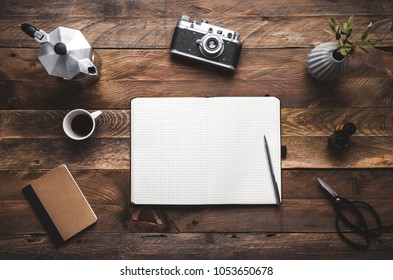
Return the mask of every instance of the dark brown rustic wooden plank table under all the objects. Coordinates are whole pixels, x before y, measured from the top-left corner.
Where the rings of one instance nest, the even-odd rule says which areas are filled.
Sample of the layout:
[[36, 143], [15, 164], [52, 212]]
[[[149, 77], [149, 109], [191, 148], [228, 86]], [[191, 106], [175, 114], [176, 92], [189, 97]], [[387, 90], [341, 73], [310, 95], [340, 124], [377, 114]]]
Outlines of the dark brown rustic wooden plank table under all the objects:
[[[393, 224], [393, 57], [359, 54], [341, 80], [319, 83], [305, 67], [328, 41], [327, 18], [373, 21], [393, 46], [390, 0], [381, 1], [11, 1], [0, 2], [1, 259], [392, 259], [393, 234], [359, 252], [340, 240], [328, 196], [372, 204]], [[170, 58], [180, 15], [239, 31], [244, 48], [234, 76]], [[102, 59], [86, 90], [49, 76], [23, 22], [45, 31], [79, 29]], [[274, 206], [137, 207], [130, 196], [130, 99], [137, 96], [262, 96], [281, 99], [283, 203]], [[68, 139], [62, 119], [100, 109], [94, 135]], [[350, 150], [335, 155], [327, 137], [352, 121]], [[21, 189], [65, 163], [98, 216], [92, 228], [55, 248]]]

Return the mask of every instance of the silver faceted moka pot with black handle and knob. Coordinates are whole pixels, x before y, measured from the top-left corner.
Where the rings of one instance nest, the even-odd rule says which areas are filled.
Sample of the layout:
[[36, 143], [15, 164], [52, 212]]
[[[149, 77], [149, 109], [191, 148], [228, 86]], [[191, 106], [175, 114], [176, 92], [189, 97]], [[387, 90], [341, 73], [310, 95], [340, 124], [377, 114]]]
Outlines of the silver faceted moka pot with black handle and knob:
[[79, 30], [60, 26], [48, 34], [28, 23], [21, 29], [40, 43], [38, 59], [49, 75], [76, 81], [84, 88], [99, 79], [101, 60]]

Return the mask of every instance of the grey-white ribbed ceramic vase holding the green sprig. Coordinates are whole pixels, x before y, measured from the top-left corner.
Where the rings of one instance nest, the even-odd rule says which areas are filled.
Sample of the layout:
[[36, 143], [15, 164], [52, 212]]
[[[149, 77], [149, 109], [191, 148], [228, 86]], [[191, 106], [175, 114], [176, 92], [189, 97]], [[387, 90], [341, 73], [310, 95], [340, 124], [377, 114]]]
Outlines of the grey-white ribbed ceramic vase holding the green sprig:
[[336, 43], [322, 43], [313, 48], [308, 54], [307, 69], [314, 79], [322, 82], [337, 80], [348, 65], [349, 57], [345, 56], [341, 60], [333, 57], [333, 52], [337, 50]]

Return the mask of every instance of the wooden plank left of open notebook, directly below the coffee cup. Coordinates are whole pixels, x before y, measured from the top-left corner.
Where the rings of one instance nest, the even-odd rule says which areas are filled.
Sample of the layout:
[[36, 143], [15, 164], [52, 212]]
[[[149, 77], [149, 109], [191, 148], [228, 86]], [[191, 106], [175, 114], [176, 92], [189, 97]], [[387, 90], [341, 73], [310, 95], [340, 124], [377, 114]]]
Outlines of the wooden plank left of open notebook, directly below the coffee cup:
[[[129, 139], [3, 139], [0, 169], [129, 169]], [[6, 167], [7, 166], [7, 167]]]

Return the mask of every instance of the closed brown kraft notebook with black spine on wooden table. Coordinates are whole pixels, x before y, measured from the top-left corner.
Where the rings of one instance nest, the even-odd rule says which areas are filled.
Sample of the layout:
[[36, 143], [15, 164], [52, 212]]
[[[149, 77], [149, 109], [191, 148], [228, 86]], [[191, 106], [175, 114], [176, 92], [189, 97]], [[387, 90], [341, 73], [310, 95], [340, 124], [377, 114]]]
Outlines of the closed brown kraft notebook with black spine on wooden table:
[[66, 241], [97, 221], [64, 164], [31, 181], [23, 192], [55, 243]]

